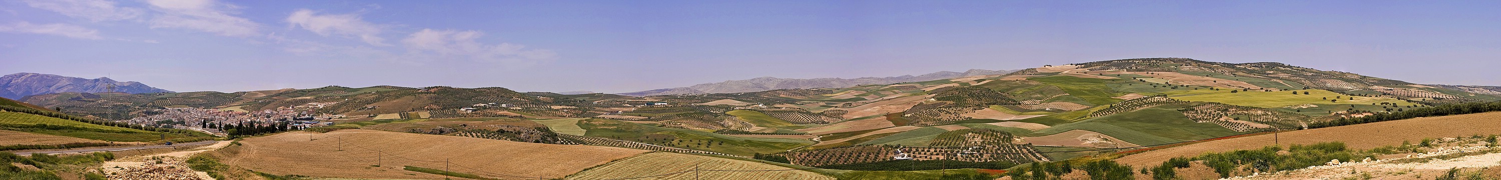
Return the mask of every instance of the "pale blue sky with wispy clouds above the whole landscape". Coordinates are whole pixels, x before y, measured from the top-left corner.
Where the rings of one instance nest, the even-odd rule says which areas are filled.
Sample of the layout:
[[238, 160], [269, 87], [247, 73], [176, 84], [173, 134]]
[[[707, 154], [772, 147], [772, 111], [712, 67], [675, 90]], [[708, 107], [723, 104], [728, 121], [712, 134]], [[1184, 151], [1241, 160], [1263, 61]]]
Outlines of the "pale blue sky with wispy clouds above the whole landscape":
[[0, 0], [0, 74], [176, 92], [623, 93], [699, 82], [1282, 62], [1501, 86], [1501, 2]]

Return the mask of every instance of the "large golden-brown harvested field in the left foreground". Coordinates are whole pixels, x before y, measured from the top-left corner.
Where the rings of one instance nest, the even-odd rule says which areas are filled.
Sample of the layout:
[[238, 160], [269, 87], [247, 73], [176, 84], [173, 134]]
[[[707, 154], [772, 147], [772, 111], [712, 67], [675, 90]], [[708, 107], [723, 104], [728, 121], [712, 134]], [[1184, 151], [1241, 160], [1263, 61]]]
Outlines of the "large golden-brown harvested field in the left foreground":
[[[444, 159], [452, 160], [453, 166], [449, 171], [455, 172], [495, 178], [509, 177], [491, 172], [557, 178], [645, 153], [618, 147], [533, 144], [363, 129], [327, 134], [287, 132], [246, 138], [242, 142], [243, 148], [222, 162], [281, 176], [350, 178], [443, 178], [443, 176], [404, 171], [402, 166], [441, 170]], [[377, 162], [380, 166], [372, 166]]]

